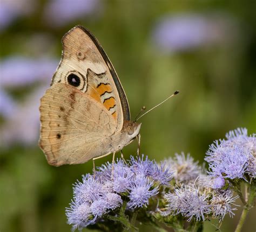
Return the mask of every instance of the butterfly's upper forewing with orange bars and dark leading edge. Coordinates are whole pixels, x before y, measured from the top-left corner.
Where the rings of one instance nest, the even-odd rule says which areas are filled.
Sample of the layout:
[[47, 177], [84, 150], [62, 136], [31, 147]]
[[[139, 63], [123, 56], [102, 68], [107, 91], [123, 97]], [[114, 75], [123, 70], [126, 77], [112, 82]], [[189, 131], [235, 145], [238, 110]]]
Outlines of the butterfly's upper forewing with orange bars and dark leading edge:
[[[129, 104], [116, 71], [97, 39], [83, 26], [76, 26], [62, 38], [62, 60], [52, 78], [68, 83], [70, 74], [82, 78], [79, 89], [102, 103], [116, 121], [116, 131], [130, 121]], [[83, 85], [82, 85], [83, 84]]]

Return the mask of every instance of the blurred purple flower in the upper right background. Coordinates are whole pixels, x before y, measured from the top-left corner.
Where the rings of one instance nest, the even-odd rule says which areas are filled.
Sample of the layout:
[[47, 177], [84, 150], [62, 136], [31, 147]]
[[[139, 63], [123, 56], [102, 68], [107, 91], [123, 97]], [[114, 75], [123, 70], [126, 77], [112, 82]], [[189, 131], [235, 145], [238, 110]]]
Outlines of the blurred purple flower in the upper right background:
[[[164, 17], [153, 30], [153, 41], [164, 52], [192, 50], [230, 39], [233, 22], [227, 16], [180, 14]], [[234, 38], [233, 38], [234, 39]]]

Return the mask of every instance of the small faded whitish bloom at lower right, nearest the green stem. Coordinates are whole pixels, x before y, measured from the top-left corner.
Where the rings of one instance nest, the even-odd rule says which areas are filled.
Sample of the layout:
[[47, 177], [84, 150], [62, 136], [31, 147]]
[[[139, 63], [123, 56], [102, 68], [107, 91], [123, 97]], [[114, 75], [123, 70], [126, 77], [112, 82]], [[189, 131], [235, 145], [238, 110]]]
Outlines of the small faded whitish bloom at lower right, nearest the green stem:
[[237, 208], [232, 208], [232, 205], [238, 206], [234, 204], [238, 198], [239, 196], [233, 197], [231, 190], [214, 192], [211, 199], [213, 216], [219, 217], [220, 220], [223, 220], [226, 214], [233, 217], [234, 213], [232, 211], [237, 210]]

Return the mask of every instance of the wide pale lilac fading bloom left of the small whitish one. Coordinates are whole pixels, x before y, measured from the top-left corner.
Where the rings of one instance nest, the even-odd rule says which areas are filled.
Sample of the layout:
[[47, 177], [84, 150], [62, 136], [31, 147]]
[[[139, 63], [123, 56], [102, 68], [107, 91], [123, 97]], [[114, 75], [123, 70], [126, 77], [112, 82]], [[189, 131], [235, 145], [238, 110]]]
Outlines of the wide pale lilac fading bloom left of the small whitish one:
[[[191, 221], [195, 216], [197, 221], [205, 220], [205, 215], [211, 212], [208, 204], [208, 195], [201, 193], [199, 188], [194, 186], [182, 185], [180, 188], [174, 189], [174, 193], [165, 194], [167, 200], [167, 214], [181, 214], [188, 217], [187, 221]], [[166, 212], [163, 215], [166, 215]]]

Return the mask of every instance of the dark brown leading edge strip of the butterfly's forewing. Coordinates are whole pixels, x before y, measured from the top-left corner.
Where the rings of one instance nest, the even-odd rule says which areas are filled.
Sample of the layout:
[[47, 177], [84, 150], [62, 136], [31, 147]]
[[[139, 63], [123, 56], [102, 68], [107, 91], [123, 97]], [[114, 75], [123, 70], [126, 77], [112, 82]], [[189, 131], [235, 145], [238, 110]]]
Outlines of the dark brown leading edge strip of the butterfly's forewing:
[[[109, 60], [109, 58], [107, 57], [105, 51], [103, 50], [102, 46], [99, 44], [98, 40], [95, 38], [95, 36], [93, 36], [93, 34], [87, 30], [84, 26], [81, 26], [81, 25], [77, 25], [76, 27], [80, 28], [81, 30], [83, 30], [87, 36], [90, 37], [90, 39], [93, 41], [93, 43], [96, 45], [99, 53], [102, 55], [105, 63], [106, 63], [106, 66], [109, 67], [109, 71], [110, 71], [110, 74], [112, 75], [112, 78], [114, 80], [114, 83], [117, 87], [117, 91], [118, 91], [118, 94], [119, 94], [119, 97], [120, 97], [120, 100], [121, 100], [121, 105], [122, 105], [122, 110], [123, 110], [123, 115], [124, 115], [124, 120], [126, 121], [130, 121], [130, 109], [129, 109], [129, 104], [128, 104], [128, 101], [127, 101], [127, 98], [126, 98], [126, 95], [125, 95], [125, 92], [124, 92], [124, 89], [119, 81], [119, 78], [117, 76], [117, 73], [116, 71], [114, 70], [114, 67], [113, 65], [111, 64], [111, 61]], [[76, 28], [75, 27], [75, 28]], [[64, 35], [65, 37], [65, 35]], [[63, 38], [64, 38], [63, 37]]]

